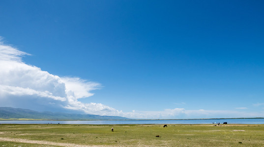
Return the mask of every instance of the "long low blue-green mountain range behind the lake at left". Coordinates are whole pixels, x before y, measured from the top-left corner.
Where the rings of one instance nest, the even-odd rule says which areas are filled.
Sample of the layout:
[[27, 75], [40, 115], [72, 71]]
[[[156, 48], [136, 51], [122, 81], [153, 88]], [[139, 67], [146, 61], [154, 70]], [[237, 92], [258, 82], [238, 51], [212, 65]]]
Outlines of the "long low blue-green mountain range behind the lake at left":
[[44, 120], [130, 120], [118, 116], [38, 112], [29, 109], [0, 107], [0, 119], [44, 119]]

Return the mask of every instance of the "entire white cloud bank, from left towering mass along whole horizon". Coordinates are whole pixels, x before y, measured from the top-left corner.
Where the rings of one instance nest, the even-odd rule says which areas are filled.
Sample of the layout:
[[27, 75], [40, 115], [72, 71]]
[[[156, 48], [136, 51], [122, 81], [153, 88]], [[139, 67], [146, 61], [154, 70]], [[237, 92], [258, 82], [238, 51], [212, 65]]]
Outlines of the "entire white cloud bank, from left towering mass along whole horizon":
[[[121, 116], [136, 119], [189, 119], [189, 118], [235, 118], [264, 117], [264, 113], [239, 111], [185, 110], [122, 112], [102, 103], [83, 103], [92, 90], [101, 84], [79, 77], [59, 77], [23, 62], [30, 55], [0, 42], [0, 106], [28, 108], [37, 111], [81, 112], [96, 115]], [[180, 103], [184, 104], [185, 103]], [[262, 104], [259, 104], [262, 105]], [[244, 108], [237, 108], [244, 109]]]

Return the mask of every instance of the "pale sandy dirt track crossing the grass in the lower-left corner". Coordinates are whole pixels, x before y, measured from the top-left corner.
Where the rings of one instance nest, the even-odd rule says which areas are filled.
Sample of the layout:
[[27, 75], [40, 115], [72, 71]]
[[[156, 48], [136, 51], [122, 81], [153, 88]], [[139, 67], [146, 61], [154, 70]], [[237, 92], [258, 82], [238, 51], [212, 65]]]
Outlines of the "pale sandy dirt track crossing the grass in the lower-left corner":
[[52, 145], [52, 146], [61, 146], [61, 147], [106, 147], [106, 146], [85, 146], [85, 145], [76, 145], [76, 144], [69, 144], [69, 143], [55, 143], [55, 142], [48, 142], [48, 141], [37, 141], [37, 140], [27, 140], [27, 139], [18, 139], [18, 138], [6, 138], [6, 137], [0, 137], [0, 141]]

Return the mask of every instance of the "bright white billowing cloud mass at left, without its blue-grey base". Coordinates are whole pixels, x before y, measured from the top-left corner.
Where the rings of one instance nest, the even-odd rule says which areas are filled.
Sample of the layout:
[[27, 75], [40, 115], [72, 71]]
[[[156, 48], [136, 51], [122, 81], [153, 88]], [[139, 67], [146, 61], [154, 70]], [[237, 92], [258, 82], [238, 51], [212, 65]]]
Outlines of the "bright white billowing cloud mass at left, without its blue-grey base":
[[[91, 90], [98, 89], [99, 83], [78, 77], [59, 77], [28, 65], [22, 61], [26, 52], [0, 43], [0, 100], [1, 106], [13, 99], [12, 106], [25, 107], [19, 99], [30, 99], [29, 106], [41, 98], [50, 105], [58, 104], [61, 108], [85, 110], [87, 113], [111, 109], [102, 104], [83, 104], [78, 98], [88, 98]], [[44, 100], [45, 99], [45, 100]], [[38, 103], [40, 104], [40, 103]], [[105, 107], [105, 108], [102, 108]], [[97, 108], [97, 109], [96, 109]], [[113, 109], [113, 108], [112, 108]], [[99, 113], [98, 113], [99, 114]]]

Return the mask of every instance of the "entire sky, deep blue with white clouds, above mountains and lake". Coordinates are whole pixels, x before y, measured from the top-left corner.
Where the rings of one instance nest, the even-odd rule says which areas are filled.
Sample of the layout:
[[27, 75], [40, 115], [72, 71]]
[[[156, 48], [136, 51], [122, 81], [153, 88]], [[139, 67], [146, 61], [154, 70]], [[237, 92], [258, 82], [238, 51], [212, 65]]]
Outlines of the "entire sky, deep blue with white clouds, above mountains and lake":
[[263, 7], [1, 0], [0, 106], [141, 119], [264, 117]]

